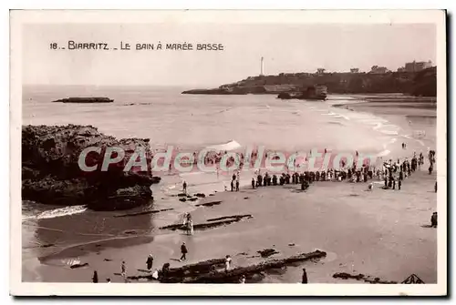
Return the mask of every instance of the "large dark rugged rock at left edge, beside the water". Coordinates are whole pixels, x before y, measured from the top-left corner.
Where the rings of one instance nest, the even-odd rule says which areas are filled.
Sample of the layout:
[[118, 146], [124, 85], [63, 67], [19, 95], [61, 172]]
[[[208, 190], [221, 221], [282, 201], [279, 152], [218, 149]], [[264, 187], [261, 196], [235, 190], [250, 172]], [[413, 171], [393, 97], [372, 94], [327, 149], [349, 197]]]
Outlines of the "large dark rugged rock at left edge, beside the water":
[[[85, 163], [97, 166], [84, 171], [78, 161], [87, 147]], [[125, 152], [119, 162], [101, 170], [107, 147], [120, 147]], [[148, 170], [125, 165], [141, 147]], [[115, 158], [116, 153], [110, 155]], [[118, 210], [149, 204], [153, 200], [150, 186], [160, 178], [150, 172], [149, 139], [116, 139], [92, 126], [24, 126], [22, 127], [22, 198], [50, 205], [84, 205], [94, 210]]]

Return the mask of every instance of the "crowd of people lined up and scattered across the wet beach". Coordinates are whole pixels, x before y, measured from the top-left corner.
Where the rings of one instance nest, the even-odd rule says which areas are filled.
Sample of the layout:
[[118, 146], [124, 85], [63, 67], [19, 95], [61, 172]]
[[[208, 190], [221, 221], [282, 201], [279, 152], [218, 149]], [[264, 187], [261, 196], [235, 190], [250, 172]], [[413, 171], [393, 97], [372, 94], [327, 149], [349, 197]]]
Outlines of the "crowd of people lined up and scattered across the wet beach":
[[[402, 148], [406, 148], [406, 145], [402, 143]], [[253, 157], [255, 157], [253, 153]], [[358, 152], [357, 152], [358, 155]], [[212, 158], [209, 158], [208, 162], [215, 162], [218, 158], [222, 158], [222, 153], [214, 155]], [[243, 156], [244, 157], [244, 156]], [[434, 150], [430, 150], [428, 153], [430, 167], [428, 172], [431, 175], [433, 171], [433, 166], [435, 164], [436, 153]], [[284, 186], [284, 185], [300, 185], [302, 190], [306, 190], [309, 186], [316, 181], [349, 181], [352, 183], [367, 183], [369, 179], [377, 178], [378, 181], [383, 180], [384, 185], [383, 189], [396, 189], [400, 190], [402, 186], [402, 181], [405, 178], [408, 178], [412, 175], [413, 172], [420, 169], [424, 165], [424, 156], [420, 153], [419, 156], [416, 153], [413, 153], [412, 158], [404, 158], [402, 160], [397, 159], [393, 161], [389, 159], [388, 161], [383, 162], [381, 168], [376, 168], [375, 166], [369, 166], [368, 164], [363, 165], [361, 168], [357, 168], [356, 163], [353, 162], [351, 167], [346, 167], [346, 164], [342, 161], [342, 169], [328, 168], [326, 170], [320, 171], [305, 171], [305, 172], [295, 172], [293, 174], [282, 173], [281, 175], [270, 175], [268, 172], [265, 172], [264, 175], [258, 170], [255, 174], [255, 177], [252, 178], [252, 188], [263, 188], [269, 186]], [[233, 174], [231, 180], [231, 191], [239, 191], [240, 184], [240, 171], [238, 170]], [[183, 181], [182, 188], [184, 193], [187, 193], [187, 183]], [[437, 182], [434, 186], [435, 192], [437, 192]], [[373, 183], [368, 184], [368, 190], [373, 190]], [[190, 213], [185, 213], [183, 216], [182, 226], [186, 229], [188, 235], [193, 235], [193, 222], [192, 215]], [[431, 217], [431, 226], [437, 227], [437, 212], [434, 212]], [[181, 258], [179, 261], [186, 260], [189, 250], [185, 242], [181, 244]], [[225, 257], [224, 261], [224, 270], [228, 272], [232, 268], [232, 258], [230, 255]], [[146, 260], [146, 267], [149, 272], [152, 272], [153, 266], [153, 256], [150, 254]], [[159, 279], [159, 276], [165, 277], [170, 271], [170, 263], [163, 264], [161, 270], [155, 269], [152, 273], [152, 278]], [[127, 267], [125, 261], [122, 261], [120, 265], [120, 275], [124, 278], [125, 282], [127, 280]], [[94, 283], [98, 282], [98, 272], [95, 270], [92, 276], [92, 281]], [[110, 279], [107, 279], [107, 282], [110, 282]], [[245, 283], [245, 276], [241, 276], [239, 279], [240, 283]], [[303, 269], [302, 283], [307, 283], [307, 274], [306, 269]]]

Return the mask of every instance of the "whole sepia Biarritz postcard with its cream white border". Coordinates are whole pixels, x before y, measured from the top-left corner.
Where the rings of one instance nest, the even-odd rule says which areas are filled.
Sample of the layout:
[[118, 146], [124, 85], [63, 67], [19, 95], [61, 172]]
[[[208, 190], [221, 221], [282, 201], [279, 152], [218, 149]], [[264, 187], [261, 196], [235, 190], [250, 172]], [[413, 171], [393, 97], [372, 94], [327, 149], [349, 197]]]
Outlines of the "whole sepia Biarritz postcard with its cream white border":
[[13, 294], [446, 295], [444, 10], [10, 22]]

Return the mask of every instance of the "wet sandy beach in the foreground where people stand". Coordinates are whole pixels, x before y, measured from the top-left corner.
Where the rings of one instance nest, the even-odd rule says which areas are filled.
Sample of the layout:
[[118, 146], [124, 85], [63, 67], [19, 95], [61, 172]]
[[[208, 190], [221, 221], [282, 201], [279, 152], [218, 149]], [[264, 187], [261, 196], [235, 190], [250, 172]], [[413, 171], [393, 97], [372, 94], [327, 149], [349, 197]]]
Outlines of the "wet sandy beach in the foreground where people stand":
[[[426, 156], [427, 147], [435, 147], [435, 109], [417, 107], [413, 116], [408, 116], [407, 107], [379, 107], [379, 102], [369, 103], [349, 104], [347, 109], [368, 111], [410, 129], [409, 137], [399, 137], [386, 158], [411, 158], [414, 151]], [[417, 129], [424, 130], [426, 137], [416, 140], [412, 130]], [[400, 147], [402, 141], [408, 143], [407, 149]], [[313, 183], [306, 192], [298, 191], [299, 185], [285, 185], [219, 191], [191, 203], [181, 203], [175, 198], [170, 204], [158, 199], [154, 209], [172, 207], [174, 210], [122, 218], [125, 234], [121, 237], [107, 235], [101, 240], [99, 236], [93, 239], [86, 236], [78, 246], [45, 249], [39, 256], [24, 260], [23, 280], [88, 282], [93, 270], [97, 270], [100, 281], [109, 278], [123, 282], [115, 275], [120, 272], [122, 260], [126, 261], [128, 275], [133, 276], [143, 273], [139, 269], [145, 269], [149, 254], [154, 257], [153, 269], [161, 269], [166, 262], [173, 268], [204, 259], [222, 259], [225, 255], [233, 257], [236, 267], [264, 260], [257, 251], [272, 248], [278, 253], [271, 259], [314, 249], [324, 250], [327, 255], [325, 259], [268, 271], [262, 282], [299, 282], [301, 269], [306, 268], [311, 283], [356, 282], [334, 279], [336, 272], [363, 273], [398, 282], [414, 273], [426, 283], [435, 283], [437, 230], [428, 227], [430, 216], [437, 208], [436, 172], [428, 175], [428, 167], [426, 158], [424, 166], [406, 178], [400, 190], [381, 189], [383, 181], [374, 178], [372, 192], [367, 191], [367, 183], [326, 181]], [[221, 202], [211, 207], [196, 207], [213, 201]], [[179, 230], [158, 229], [181, 222], [185, 211], [192, 212], [194, 224], [234, 215], [249, 214], [252, 218], [195, 230], [193, 236]], [[111, 217], [116, 215], [119, 213]], [[66, 216], [61, 221], [69, 225], [72, 217]], [[110, 221], [109, 216], [104, 214], [102, 221]], [[154, 229], [144, 229], [150, 222], [154, 223]], [[178, 261], [182, 241], [189, 249], [184, 262]], [[70, 269], [68, 259], [75, 258], [88, 266]]]

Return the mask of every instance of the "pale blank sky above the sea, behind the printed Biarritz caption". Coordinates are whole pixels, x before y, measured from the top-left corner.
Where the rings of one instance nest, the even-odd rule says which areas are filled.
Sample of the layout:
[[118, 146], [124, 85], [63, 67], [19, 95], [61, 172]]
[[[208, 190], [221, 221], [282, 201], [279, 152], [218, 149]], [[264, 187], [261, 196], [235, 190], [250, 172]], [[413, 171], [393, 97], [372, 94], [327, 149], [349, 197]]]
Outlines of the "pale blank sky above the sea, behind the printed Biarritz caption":
[[[436, 61], [433, 24], [36, 24], [22, 34], [24, 85], [220, 86], [259, 75], [262, 56], [265, 75]], [[111, 49], [68, 50], [69, 40]], [[135, 50], [159, 42], [162, 50]], [[165, 49], [179, 43], [223, 50]]]

